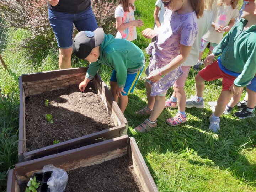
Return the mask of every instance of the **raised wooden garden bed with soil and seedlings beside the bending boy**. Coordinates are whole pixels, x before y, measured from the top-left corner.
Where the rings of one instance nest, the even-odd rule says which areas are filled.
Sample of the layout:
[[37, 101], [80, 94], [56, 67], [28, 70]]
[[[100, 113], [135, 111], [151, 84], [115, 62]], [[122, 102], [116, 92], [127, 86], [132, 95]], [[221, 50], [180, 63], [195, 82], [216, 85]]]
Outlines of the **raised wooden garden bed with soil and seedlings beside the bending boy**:
[[[79, 91], [86, 71], [75, 68], [19, 77], [20, 162], [127, 133], [126, 118], [98, 74], [84, 93]], [[46, 121], [45, 114], [52, 115], [53, 123]], [[60, 143], [53, 144], [54, 140]]]

